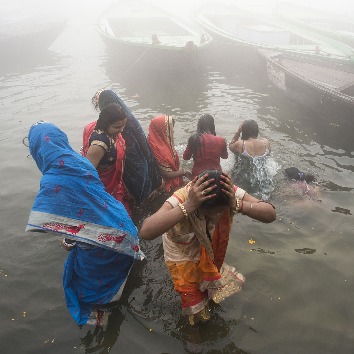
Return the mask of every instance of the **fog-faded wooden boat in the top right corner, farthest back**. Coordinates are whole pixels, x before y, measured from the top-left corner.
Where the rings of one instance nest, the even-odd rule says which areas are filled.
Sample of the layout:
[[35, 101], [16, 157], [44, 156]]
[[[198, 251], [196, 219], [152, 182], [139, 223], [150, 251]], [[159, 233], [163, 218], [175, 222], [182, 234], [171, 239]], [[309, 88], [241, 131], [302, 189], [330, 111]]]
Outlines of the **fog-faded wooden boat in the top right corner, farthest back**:
[[354, 18], [288, 2], [277, 3], [276, 17], [354, 47]]

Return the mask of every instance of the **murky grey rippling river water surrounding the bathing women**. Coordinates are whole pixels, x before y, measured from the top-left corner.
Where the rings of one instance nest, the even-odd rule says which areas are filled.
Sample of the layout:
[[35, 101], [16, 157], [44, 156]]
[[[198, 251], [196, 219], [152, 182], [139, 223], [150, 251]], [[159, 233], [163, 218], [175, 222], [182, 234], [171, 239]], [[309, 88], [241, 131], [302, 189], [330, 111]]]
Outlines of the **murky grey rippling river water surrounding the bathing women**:
[[[173, 115], [181, 157], [201, 114], [212, 114], [217, 134], [228, 140], [242, 120], [258, 122], [259, 136], [272, 146], [272, 184], [261, 195], [276, 205], [278, 217], [272, 224], [235, 218], [225, 262], [245, 275], [244, 291], [211, 306], [211, 320], [191, 330], [164, 263], [161, 238], [142, 240], [147, 258], [136, 263], [123, 298], [110, 308], [108, 326], [75, 323], [64, 300], [67, 252], [61, 240], [24, 233], [41, 173], [27, 158], [22, 138], [45, 119], [79, 150], [84, 125], [97, 118], [91, 97], [126, 69], [92, 27], [68, 27], [44, 55], [0, 69], [1, 352], [351, 353], [352, 131], [292, 104], [257, 67], [222, 54], [218, 60], [207, 56], [194, 77], [132, 69], [110, 88], [145, 132], [154, 116]], [[140, 97], [131, 97], [136, 94]], [[291, 166], [318, 178], [313, 194], [284, 177], [282, 170]], [[222, 167], [233, 171], [232, 153]], [[192, 162], [182, 161], [182, 168], [190, 170]], [[155, 204], [135, 210], [137, 225]]]

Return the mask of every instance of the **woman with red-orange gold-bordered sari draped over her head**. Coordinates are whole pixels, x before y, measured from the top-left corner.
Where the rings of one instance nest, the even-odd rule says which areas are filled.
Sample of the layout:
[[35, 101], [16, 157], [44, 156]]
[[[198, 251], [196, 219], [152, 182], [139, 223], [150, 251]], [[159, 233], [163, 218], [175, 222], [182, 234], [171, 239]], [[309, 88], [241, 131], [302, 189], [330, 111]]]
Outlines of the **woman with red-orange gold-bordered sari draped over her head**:
[[165, 183], [165, 193], [184, 184], [183, 176], [191, 179], [189, 171], [179, 169], [179, 156], [173, 145], [175, 120], [170, 115], [154, 118], [149, 125], [148, 143], [155, 156]]

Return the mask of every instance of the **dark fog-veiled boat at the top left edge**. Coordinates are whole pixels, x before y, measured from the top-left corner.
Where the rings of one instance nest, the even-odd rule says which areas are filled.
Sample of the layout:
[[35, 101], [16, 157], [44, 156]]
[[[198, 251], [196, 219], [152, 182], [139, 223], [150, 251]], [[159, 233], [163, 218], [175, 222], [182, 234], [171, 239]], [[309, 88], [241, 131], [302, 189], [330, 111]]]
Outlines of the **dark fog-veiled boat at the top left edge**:
[[67, 20], [61, 23], [32, 24], [0, 29], [0, 55], [19, 56], [49, 48], [63, 32]]

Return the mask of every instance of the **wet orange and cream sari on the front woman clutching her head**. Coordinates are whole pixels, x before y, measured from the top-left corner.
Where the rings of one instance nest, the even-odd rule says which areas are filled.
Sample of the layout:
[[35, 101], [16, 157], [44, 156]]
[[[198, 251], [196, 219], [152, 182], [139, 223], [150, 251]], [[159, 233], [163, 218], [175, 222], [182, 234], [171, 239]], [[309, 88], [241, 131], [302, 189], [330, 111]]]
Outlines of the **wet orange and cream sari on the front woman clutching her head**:
[[[190, 183], [177, 190], [167, 202], [175, 207], [188, 200]], [[235, 187], [237, 189], [237, 187]], [[215, 225], [212, 242], [206, 235], [206, 222], [195, 213], [163, 235], [164, 254], [175, 290], [181, 295], [182, 314], [190, 324], [207, 320], [210, 299], [218, 303], [243, 289], [245, 278], [224, 263], [233, 223], [233, 212], [226, 207]], [[196, 317], [195, 317], [196, 316]]]

